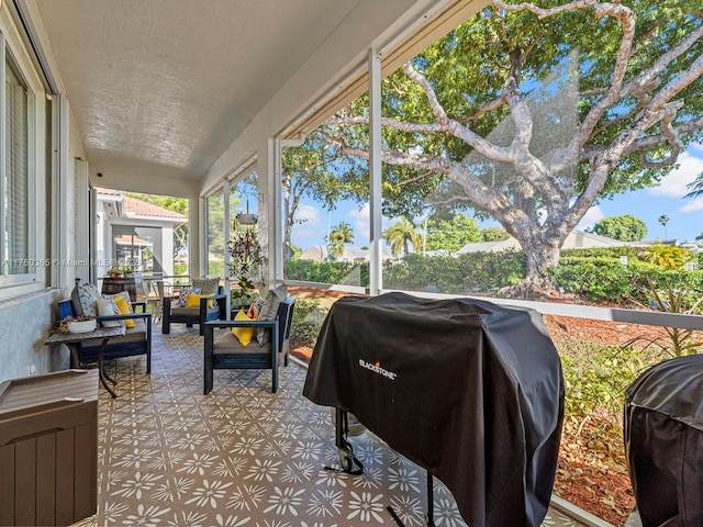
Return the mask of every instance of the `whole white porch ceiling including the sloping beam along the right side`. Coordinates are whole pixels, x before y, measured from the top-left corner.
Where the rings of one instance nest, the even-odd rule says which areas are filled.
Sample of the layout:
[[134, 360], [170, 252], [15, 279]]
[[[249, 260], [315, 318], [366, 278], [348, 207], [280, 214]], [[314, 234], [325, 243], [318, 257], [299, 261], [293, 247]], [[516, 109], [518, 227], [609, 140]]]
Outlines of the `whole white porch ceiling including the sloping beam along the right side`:
[[487, 1], [13, 0], [91, 177], [144, 192], [211, 186], [321, 98], [364, 91], [369, 48], [395, 68]]

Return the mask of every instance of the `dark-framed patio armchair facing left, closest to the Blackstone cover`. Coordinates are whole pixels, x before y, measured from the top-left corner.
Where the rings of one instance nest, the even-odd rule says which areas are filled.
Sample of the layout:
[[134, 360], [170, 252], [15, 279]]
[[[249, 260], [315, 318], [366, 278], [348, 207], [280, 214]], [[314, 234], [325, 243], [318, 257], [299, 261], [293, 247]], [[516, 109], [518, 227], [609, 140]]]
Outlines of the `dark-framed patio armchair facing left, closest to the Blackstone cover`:
[[[238, 370], [238, 369], [269, 369], [271, 370], [271, 392], [278, 391], [278, 366], [282, 361], [288, 366], [288, 350], [290, 329], [293, 322], [293, 310], [295, 299], [288, 296], [283, 299], [274, 319], [256, 321], [216, 321], [205, 323], [205, 345], [204, 345], [204, 382], [203, 393], [208, 394], [213, 388], [214, 370]], [[263, 310], [263, 314], [266, 312]], [[215, 328], [225, 328], [220, 332], [215, 340]], [[252, 328], [270, 332], [268, 339], [252, 338], [247, 345], [243, 345], [238, 337], [232, 334], [233, 328]], [[263, 343], [263, 344], [261, 344]]]

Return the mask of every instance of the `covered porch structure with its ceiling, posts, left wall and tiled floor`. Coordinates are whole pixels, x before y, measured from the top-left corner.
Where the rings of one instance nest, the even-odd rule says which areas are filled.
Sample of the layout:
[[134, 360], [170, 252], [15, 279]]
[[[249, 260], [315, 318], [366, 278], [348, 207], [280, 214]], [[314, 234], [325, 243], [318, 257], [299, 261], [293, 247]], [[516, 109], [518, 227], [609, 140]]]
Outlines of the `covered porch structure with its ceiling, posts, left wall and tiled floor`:
[[[75, 280], [97, 282], [109, 267], [96, 254], [98, 187], [187, 198], [189, 273], [204, 277], [209, 199], [255, 171], [263, 278], [284, 282], [281, 153], [365, 92], [379, 144], [383, 76], [487, 3], [0, 0], [2, 85], [22, 88], [26, 161], [14, 216], [24, 245], [0, 244], [0, 381], [66, 368], [66, 352], [43, 343]], [[14, 133], [2, 128], [0, 143]], [[356, 292], [376, 295], [384, 292], [380, 157], [370, 171], [371, 285]], [[224, 239], [231, 216], [225, 200]], [[701, 327], [688, 315], [538, 309]], [[276, 395], [268, 373], [221, 371], [203, 396], [198, 330], [153, 335], [150, 375], [141, 358], [109, 365], [119, 397], [100, 393], [98, 515], [80, 525], [392, 525], [388, 505], [406, 526], [423, 525], [424, 473], [370, 433], [355, 439], [362, 476], [323, 469], [337, 460], [333, 425], [327, 408], [302, 397], [303, 366], [282, 371]], [[464, 525], [450, 494], [435, 495], [437, 525]], [[544, 525], [605, 524], [555, 497]]]

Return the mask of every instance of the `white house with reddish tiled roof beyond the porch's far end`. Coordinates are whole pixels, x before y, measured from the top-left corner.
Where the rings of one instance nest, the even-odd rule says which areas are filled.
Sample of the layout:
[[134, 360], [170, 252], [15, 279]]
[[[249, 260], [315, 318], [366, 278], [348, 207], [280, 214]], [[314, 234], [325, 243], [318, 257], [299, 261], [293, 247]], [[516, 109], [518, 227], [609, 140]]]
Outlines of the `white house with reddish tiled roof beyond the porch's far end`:
[[137, 272], [174, 274], [174, 228], [188, 218], [116, 190], [97, 188], [96, 193], [98, 277], [111, 261]]

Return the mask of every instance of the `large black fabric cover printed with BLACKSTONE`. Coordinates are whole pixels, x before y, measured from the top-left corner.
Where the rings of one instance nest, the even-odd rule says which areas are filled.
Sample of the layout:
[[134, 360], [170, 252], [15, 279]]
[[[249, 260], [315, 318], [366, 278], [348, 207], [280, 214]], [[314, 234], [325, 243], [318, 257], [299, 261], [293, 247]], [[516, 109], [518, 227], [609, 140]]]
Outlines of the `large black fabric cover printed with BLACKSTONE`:
[[470, 299], [345, 296], [303, 395], [439, 478], [472, 527], [538, 526], [557, 468], [563, 379], [540, 315]]

